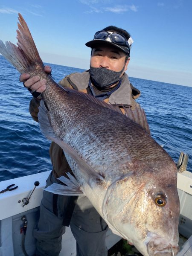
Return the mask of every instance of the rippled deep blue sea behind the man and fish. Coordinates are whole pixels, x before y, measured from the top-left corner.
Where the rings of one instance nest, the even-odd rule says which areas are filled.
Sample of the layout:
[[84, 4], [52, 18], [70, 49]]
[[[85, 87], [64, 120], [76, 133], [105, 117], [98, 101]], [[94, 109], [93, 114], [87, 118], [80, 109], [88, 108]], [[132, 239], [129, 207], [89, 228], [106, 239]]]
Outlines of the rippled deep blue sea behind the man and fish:
[[[83, 70], [50, 64], [52, 76]], [[52, 169], [50, 142], [29, 114], [31, 95], [19, 82], [19, 73], [0, 56], [0, 181]], [[137, 102], [145, 109], [151, 136], [177, 162], [189, 155], [192, 172], [192, 87], [130, 78], [142, 93]]]

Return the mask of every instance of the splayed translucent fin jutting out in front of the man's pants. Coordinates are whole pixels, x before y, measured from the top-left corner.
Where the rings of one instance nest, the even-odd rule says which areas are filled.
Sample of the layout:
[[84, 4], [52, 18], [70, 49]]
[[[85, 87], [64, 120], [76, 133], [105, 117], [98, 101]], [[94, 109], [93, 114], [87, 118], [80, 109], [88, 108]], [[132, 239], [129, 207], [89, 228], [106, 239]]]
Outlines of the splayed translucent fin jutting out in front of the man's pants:
[[67, 177], [61, 176], [58, 178], [61, 182], [63, 182], [66, 186], [62, 184], [53, 183], [51, 186], [48, 186], [46, 191], [52, 192], [53, 194], [58, 195], [82, 195], [83, 192], [81, 191], [80, 185], [73, 175], [67, 172]]

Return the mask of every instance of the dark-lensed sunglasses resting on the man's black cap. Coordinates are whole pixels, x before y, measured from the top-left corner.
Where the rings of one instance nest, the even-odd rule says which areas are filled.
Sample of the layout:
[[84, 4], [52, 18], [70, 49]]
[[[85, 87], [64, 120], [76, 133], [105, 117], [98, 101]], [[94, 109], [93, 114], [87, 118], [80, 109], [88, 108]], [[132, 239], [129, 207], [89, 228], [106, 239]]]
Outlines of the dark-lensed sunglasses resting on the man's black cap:
[[105, 30], [100, 30], [95, 33], [93, 39], [101, 39], [101, 40], [106, 40], [106, 41], [111, 41], [114, 44], [119, 44], [125, 47], [128, 47], [130, 50], [130, 45], [126, 38], [123, 35], [113, 33], [113, 32], [107, 32]]

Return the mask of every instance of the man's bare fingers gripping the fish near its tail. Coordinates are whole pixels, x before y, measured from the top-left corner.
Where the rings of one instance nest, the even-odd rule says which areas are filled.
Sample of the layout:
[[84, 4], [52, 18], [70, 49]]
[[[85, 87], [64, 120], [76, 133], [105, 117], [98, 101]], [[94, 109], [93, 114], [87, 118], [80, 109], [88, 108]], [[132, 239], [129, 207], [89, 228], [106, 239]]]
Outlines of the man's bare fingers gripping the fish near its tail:
[[[49, 67], [49, 66], [45, 66], [44, 70], [46, 73], [51, 73], [51, 67]], [[34, 90], [38, 93], [44, 92], [44, 90], [47, 87], [46, 79], [40, 80], [39, 76], [30, 77], [30, 75], [28, 73], [23, 73], [20, 75], [20, 82], [24, 82], [24, 86], [26, 88]]]

